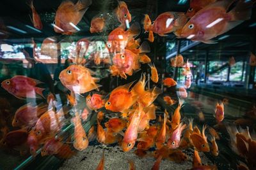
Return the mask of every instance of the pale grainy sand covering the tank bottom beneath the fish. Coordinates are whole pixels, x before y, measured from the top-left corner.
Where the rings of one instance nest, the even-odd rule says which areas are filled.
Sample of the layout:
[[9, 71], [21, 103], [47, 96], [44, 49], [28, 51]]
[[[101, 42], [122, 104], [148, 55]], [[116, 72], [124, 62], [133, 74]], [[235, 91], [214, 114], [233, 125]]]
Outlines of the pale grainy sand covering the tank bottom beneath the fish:
[[[66, 160], [60, 167], [60, 170], [65, 169], [96, 169], [100, 159], [102, 157], [103, 147], [98, 146], [88, 146], [86, 150], [82, 152], [77, 152], [74, 157]], [[149, 152], [148, 152], [149, 153]], [[184, 153], [188, 155], [188, 160], [182, 163], [175, 163], [170, 160], [162, 160], [160, 164], [161, 170], [170, 169], [191, 169], [193, 160], [193, 150], [186, 150]], [[204, 153], [200, 153], [200, 157], [203, 164], [212, 164], [212, 162], [207, 159]], [[134, 154], [134, 149], [130, 152], [122, 152], [119, 146], [107, 147], [105, 148], [105, 164], [104, 169], [129, 169], [128, 160], [133, 160], [137, 170], [151, 169], [154, 165], [156, 159], [154, 157], [139, 158]]]

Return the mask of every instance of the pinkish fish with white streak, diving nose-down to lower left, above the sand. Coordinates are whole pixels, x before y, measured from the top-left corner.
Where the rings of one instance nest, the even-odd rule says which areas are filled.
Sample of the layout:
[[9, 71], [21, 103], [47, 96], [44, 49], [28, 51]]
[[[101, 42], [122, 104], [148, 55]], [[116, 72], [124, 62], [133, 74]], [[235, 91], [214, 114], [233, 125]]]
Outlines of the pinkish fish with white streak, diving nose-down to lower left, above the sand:
[[172, 149], [179, 148], [180, 137], [181, 137], [182, 131], [184, 131], [184, 129], [186, 129], [186, 124], [180, 123], [179, 127], [177, 127], [177, 129], [175, 129], [172, 132], [172, 135], [170, 136], [170, 138], [168, 139], [168, 142], [167, 142], [167, 146], [169, 148], [172, 148]]

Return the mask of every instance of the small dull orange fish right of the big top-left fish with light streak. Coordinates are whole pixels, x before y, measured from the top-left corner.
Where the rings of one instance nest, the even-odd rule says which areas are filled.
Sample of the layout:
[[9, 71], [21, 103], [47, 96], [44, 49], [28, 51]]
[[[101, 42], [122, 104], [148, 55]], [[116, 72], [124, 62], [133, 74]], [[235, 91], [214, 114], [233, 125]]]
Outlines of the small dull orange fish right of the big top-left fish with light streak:
[[103, 15], [92, 18], [90, 32], [102, 32], [106, 24], [106, 18]]

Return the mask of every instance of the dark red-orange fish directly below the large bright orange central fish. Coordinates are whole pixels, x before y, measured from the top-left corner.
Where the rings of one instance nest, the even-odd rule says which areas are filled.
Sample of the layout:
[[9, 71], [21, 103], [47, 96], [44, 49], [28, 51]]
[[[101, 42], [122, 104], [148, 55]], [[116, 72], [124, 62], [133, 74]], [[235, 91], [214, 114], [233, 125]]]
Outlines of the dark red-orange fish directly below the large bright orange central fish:
[[111, 118], [104, 124], [108, 132], [121, 132], [126, 127], [126, 121], [121, 118]]

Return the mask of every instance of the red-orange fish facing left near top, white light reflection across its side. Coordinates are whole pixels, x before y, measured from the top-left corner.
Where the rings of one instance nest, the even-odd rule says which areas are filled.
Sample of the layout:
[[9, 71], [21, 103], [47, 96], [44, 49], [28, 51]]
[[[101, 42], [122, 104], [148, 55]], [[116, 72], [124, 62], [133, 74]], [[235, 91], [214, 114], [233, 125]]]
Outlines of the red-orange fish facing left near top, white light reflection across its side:
[[161, 13], [150, 27], [150, 31], [166, 36], [166, 34], [181, 29], [187, 22], [188, 18], [184, 13], [180, 12], [165, 12]]

